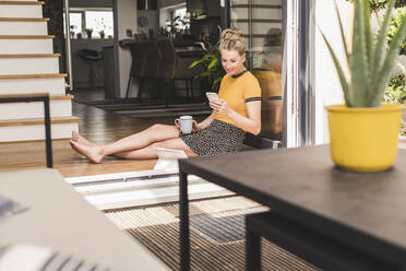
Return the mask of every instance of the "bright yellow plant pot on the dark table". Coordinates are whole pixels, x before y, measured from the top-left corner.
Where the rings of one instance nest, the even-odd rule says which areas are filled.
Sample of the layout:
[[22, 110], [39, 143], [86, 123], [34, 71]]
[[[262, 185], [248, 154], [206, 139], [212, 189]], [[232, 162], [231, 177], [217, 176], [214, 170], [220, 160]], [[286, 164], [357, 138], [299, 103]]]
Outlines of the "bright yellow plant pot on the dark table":
[[396, 160], [402, 105], [326, 106], [334, 163], [356, 172], [379, 172]]

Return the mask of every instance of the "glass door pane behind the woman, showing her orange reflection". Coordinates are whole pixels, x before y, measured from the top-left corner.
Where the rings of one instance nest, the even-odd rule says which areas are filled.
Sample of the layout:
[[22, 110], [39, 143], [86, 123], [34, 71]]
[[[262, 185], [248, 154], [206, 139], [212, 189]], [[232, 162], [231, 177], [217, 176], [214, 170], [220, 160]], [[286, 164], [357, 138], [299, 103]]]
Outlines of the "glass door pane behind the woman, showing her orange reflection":
[[284, 36], [282, 0], [231, 0], [230, 26], [240, 28], [246, 34], [248, 47], [246, 66], [261, 84], [260, 138], [282, 141]]

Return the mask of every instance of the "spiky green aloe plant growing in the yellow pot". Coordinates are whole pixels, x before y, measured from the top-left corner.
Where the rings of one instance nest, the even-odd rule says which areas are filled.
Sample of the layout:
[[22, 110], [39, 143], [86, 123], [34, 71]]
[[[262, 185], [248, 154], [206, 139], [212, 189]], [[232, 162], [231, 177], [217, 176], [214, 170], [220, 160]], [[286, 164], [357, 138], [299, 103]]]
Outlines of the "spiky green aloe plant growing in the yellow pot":
[[392, 75], [394, 60], [406, 35], [406, 20], [402, 19], [398, 32], [386, 49], [386, 36], [395, 0], [387, 2], [383, 23], [377, 37], [374, 37], [370, 25], [369, 0], [355, 0], [354, 2], [355, 14], [350, 48], [344, 36], [338, 8], [335, 7], [346, 56], [344, 67], [339, 63], [325, 35], [323, 33], [322, 35], [337, 70], [346, 105], [348, 107], [379, 107]]

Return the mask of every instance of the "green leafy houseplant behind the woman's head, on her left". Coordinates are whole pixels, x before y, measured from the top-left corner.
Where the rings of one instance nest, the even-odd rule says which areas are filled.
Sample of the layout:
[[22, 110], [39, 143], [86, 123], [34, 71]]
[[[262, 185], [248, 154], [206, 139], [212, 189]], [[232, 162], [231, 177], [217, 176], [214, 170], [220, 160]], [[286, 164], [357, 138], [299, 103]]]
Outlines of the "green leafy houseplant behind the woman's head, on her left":
[[205, 50], [203, 57], [190, 64], [190, 69], [202, 64], [204, 71], [195, 76], [196, 80], [206, 79], [211, 89], [218, 92], [219, 84], [222, 83], [225, 71], [222, 67], [222, 54], [217, 44], [212, 45], [208, 42], [199, 43]]

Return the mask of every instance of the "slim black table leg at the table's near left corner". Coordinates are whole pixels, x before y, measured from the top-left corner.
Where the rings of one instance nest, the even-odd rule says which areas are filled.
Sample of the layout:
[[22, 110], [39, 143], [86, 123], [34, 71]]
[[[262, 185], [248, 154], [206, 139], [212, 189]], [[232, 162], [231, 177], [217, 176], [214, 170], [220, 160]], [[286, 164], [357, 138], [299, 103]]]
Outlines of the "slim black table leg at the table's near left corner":
[[190, 270], [188, 174], [179, 172], [180, 270]]

